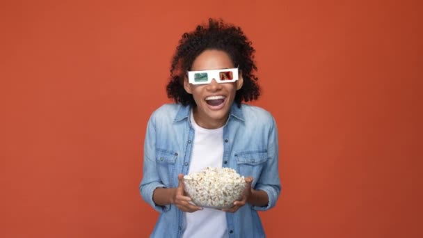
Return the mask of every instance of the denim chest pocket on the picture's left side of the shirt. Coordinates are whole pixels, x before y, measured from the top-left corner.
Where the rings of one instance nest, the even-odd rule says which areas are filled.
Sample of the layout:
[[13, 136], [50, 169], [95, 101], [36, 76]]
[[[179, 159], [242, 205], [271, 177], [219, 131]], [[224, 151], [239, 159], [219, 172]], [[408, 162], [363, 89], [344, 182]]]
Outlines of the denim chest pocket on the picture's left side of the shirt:
[[166, 187], [172, 187], [173, 174], [175, 173], [175, 162], [177, 152], [170, 150], [156, 149], [156, 166], [161, 182]]

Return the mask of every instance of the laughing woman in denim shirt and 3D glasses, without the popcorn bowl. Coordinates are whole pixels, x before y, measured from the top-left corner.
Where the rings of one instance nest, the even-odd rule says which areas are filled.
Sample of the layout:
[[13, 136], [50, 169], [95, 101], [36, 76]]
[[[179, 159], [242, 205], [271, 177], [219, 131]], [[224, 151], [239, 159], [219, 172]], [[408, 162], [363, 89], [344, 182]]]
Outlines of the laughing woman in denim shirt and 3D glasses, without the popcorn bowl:
[[[221, 20], [184, 33], [170, 68], [168, 97], [152, 113], [144, 145], [143, 199], [160, 212], [151, 237], [264, 237], [257, 211], [280, 193], [278, 131], [271, 114], [242, 103], [260, 96], [255, 49], [244, 32]], [[246, 177], [230, 209], [197, 207], [182, 177], [229, 167]]]

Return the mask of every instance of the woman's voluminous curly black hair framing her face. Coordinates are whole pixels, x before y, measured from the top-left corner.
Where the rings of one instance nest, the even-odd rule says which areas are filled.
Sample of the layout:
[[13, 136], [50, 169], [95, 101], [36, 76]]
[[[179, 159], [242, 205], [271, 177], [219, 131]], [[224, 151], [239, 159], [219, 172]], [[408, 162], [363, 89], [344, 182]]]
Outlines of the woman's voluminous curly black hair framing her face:
[[258, 77], [254, 75], [257, 66], [254, 62], [255, 49], [251, 46], [240, 27], [225, 24], [222, 19], [209, 19], [209, 25], [198, 25], [195, 31], [184, 33], [173, 56], [170, 68], [170, 81], [166, 86], [168, 98], [183, 105], [194, 105], [193, 95], [186, 93], [183, 81], [186, 71], [191, 70], [195, 58], [206, 49], [225, 51], [234, 65], [239, 65], [244, 79], [237, 90], [234, 102], [257, 100], [260, 96]]

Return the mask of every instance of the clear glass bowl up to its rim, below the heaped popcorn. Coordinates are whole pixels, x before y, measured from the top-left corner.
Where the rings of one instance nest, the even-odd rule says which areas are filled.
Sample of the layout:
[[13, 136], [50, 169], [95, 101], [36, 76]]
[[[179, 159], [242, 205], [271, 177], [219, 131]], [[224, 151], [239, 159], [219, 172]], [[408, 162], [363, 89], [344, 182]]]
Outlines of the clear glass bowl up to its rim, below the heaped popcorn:
[[210, 184], [188, 178], [183, 178], [182, 182], [187, 196], [192, 199], [196, 206], [216, 209], [232, 207], [234, 201], [242, 198], [242, 193], [246, 188], [246, 182]]

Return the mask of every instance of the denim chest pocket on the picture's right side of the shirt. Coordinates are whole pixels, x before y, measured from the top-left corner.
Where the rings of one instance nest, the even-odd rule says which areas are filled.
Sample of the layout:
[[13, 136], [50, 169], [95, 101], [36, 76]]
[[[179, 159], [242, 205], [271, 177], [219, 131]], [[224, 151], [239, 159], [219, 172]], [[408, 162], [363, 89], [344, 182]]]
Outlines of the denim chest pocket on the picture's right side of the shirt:
[[253, 176], [255, 183], [260, 177], [267, 161], [267, 150], [239, 152], [235, 154], [239, 174], [244, 177]]

